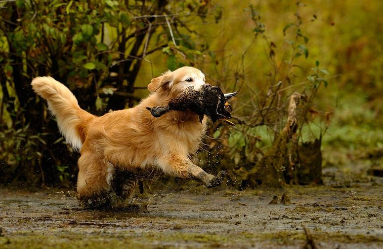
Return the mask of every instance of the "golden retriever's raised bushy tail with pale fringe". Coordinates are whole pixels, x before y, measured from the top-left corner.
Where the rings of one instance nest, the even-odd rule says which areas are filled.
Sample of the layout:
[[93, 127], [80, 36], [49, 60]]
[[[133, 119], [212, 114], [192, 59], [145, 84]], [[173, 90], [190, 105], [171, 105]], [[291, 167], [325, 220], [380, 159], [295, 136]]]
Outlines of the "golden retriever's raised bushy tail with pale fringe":
[[87, 124], [95, 116], [81, 109], [73, 93], [52, 77], [33, 79], [32, 88], [47, 100], [48, 108], [56, 117], [60, 132], [66, 141], [74, 149], [80, 149], [85, 140]]

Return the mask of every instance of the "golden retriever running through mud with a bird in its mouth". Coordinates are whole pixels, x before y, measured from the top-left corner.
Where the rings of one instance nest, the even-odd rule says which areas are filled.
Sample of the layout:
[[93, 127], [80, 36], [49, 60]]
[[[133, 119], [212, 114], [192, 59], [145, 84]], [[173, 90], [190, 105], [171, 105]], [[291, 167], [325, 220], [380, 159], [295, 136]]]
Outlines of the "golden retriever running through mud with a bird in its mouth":
[[[206, 186], [216, 178], [192, 163], [206, 131], [206, 118], [191, 111], [170, 111], [155, 118], [146, 107], [166, 105], [188, 86], [205, 84], [205, 75], [192, 67], [167, 71], [151, 80], [151, 94], [137, 106], [94, 116], [78, 105], [76, 97], [52, 77], [37, 77], [32, 87], [48, 102], [66, 141], [81, 150], [77, 198], [84, 206], [110, 201], [115, 172], [158, 169], [177, 178], [195, 179]], [[120, 196], [130, 196], [136, 179], [124, 182]]]

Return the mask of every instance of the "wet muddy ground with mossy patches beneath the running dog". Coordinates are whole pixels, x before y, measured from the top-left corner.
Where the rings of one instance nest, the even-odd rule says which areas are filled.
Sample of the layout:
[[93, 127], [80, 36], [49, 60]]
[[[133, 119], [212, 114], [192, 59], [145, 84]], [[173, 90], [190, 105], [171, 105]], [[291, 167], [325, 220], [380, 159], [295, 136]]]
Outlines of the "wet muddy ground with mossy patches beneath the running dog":
[[[324, 186], [285, 189], [189, 182], [136, 196], [142, 208], [125, 211], [80, 210], [68, 190], [0, 189], [0, 248], [300, 249], [303, 227], [318, 248], [383, 248], [383, 178], [364, 173], [325, 170]], [[291, 204], [280, 203], [285, 191]]]

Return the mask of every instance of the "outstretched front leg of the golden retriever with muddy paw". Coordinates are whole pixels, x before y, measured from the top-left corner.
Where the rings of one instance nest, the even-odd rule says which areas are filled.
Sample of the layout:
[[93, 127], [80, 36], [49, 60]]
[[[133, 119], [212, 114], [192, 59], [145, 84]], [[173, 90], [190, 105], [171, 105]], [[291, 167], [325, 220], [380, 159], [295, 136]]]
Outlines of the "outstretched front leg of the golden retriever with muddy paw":
[[185, 156], [170, 154], [159, 159], [158, 164], [164, 173], [173, 177], [194, 179], [207, 187], [214, 187], [221, 183], [220, 179], [206, 173]]

